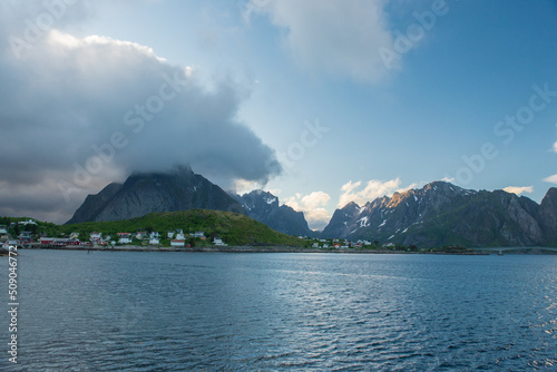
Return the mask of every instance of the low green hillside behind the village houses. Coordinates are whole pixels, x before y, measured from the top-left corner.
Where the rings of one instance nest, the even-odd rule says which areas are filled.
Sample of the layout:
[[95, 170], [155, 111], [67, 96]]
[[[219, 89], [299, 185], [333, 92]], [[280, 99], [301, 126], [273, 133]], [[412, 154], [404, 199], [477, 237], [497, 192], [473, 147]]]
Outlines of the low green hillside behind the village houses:
[[[215, 236], [222, 237], [228, 245], [286, 245], [303, 246], [296, 237], [281, 234], [266, 225], [247, 216], [232, 212], [190, 209], [183, 212], [152, 213], [143, 217], [115, 221], [94, 222], [72, 225], [53, 225], [39, 223], [39, 231], [48, 236], [80, 233], [86, 239], [91, 232], [116, 236], [117, 233], [136, 233], [138, 231], [159, 232], [166, 236], [167, 231], [182, 228], [184, 233], [205, 232], [207, 241]], [[196, 244], [199, 244], [196, 243]]]

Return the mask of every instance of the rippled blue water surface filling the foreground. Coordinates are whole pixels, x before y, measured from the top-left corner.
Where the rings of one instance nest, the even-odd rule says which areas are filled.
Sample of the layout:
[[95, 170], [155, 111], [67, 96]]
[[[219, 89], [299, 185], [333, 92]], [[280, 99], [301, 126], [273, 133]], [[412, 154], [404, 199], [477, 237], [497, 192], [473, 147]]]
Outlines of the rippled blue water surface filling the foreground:
[[18, 366], [3, 346], [0, 370], [557, 370], [557, 256], [22, 251], [18, 264]]

